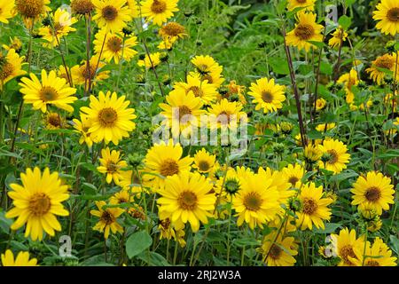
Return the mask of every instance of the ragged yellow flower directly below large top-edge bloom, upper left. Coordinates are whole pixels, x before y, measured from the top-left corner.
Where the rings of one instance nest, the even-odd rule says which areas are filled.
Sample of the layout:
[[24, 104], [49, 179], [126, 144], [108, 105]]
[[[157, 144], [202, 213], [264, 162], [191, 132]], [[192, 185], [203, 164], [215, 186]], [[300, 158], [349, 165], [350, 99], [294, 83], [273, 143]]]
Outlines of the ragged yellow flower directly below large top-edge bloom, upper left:
[[[106, 42], [103, 45], [104, 39]], [[137, 45], [136, 36], [123, 37], [117, 33], [107, 32], [105, 28], [98, 31], [93, 44], [96, 54], [98, 55], [102, 51], [101, 58], [106, 59], [107, 62], [112, 59], [116, 64], [121, 59], [129, 62], [137, 54], [137, 51], [132, 49]]]

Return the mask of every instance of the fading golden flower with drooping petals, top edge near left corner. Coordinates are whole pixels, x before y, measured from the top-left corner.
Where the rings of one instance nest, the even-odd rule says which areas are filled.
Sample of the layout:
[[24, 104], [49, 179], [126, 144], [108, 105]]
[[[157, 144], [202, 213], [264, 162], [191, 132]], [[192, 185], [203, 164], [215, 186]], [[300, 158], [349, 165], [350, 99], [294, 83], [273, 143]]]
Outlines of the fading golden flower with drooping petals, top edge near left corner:
[[51, 11], [48, 4], [50, 0], [15, 0], [15, 11], [20, 14], [27, 28], [32, 28], [46, 12]]

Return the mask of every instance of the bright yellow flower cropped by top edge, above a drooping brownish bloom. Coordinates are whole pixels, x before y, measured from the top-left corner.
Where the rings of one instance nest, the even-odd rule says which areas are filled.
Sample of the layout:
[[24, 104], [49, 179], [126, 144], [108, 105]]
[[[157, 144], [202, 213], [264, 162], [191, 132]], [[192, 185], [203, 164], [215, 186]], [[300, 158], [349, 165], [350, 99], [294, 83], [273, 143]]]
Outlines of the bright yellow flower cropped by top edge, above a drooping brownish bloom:
[[155, 25], [162, 25], [173, 17], [173, 12], [179, 11], [178, 0], [144, 0], [141, 2], [141, 16], [147, 22], [153, 21]]

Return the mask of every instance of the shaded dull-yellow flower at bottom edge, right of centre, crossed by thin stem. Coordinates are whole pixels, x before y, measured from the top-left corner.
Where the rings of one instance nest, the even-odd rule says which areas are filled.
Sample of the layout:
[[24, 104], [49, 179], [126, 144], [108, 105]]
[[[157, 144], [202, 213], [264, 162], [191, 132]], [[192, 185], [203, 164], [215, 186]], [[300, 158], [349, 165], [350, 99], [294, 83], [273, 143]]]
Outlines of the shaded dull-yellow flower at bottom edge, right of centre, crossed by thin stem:
[[294, 241], [293, 237], [283, 237], [281, 233], [277, 236], [277, 231], [265, 236], [260, 248], [263, 262], [268, 266], [293, 266], [296, 263], [293, 256], [298, 255], [298, 245]]

